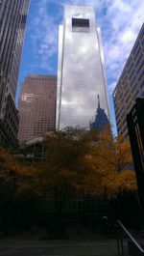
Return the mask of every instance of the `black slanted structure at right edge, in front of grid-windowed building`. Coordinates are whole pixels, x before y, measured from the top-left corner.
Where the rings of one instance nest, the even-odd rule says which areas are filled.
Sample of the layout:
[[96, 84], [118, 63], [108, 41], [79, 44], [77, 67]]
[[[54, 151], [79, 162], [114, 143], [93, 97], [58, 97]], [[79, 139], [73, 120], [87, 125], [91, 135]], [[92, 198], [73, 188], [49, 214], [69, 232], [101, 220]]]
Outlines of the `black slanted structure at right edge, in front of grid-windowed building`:
[[144, 98], [136, 99], [127, 115], [138, 193], [144, 210]]

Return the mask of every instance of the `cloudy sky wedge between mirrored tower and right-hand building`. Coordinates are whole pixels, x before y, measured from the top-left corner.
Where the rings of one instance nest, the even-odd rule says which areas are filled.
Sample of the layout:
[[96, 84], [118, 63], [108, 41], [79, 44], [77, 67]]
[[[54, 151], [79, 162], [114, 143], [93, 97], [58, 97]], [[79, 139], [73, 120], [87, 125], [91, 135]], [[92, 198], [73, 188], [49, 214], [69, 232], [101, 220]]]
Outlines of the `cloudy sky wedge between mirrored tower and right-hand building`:
[[107, 7], [107, 13], [98, 16], [98, 21], [103, 32], [108, 79], [114, 79], [116, 84], [144, 21], [144, 2], [104, 0], [103, 5]]

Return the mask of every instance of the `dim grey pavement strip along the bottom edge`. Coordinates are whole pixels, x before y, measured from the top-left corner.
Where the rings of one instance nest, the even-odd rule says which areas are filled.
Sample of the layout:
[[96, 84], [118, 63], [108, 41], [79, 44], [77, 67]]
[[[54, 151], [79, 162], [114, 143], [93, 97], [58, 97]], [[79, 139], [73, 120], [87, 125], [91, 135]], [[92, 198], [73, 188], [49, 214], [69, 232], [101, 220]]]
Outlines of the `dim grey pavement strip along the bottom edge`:
[[1, 256], [115, 256], [115, 241], [16, 241], [7, 240], [0, 245]]

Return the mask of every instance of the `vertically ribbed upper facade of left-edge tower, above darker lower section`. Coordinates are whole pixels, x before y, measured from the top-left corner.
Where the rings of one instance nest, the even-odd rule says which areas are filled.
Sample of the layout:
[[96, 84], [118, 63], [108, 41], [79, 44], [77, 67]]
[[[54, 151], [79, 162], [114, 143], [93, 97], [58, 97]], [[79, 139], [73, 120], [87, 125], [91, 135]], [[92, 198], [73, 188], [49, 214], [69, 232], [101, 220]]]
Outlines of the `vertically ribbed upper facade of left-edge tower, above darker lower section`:
[[[15, 99], [29, 0], [3, 0], [0, 9], [0, 104], [7, 91]], [[8, 93], [8, 92], [7, 92]]]

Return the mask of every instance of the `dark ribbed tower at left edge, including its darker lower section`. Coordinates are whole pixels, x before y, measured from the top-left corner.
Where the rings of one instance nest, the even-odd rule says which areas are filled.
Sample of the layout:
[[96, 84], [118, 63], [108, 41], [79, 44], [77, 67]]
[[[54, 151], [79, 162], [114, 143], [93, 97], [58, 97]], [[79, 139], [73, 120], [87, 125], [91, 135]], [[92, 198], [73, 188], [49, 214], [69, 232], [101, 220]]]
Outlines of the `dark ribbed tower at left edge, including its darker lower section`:
[[29, 0], [0, 1], [0, 144], [15, 144], [18, 112], [15, 92]]

